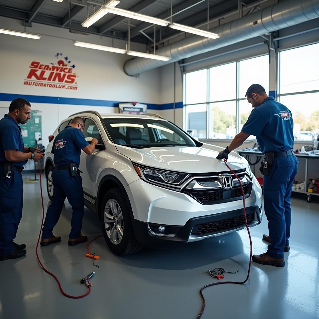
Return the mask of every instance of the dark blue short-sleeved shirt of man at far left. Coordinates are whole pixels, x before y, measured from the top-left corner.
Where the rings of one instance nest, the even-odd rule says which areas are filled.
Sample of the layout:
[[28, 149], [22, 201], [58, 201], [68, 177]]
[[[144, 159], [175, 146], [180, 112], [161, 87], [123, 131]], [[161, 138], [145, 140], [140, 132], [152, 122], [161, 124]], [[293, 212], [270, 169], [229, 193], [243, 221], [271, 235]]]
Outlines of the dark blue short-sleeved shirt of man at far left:
[[[24, 152], [24, 143], [21, 135], [21, 127], [12, 116], [5, 114], [0, 120], [0, 161], [8, 162], [4, 151], [18, 150]], [[13, 165], [23, 167], [27, 160], [12, 162]]]

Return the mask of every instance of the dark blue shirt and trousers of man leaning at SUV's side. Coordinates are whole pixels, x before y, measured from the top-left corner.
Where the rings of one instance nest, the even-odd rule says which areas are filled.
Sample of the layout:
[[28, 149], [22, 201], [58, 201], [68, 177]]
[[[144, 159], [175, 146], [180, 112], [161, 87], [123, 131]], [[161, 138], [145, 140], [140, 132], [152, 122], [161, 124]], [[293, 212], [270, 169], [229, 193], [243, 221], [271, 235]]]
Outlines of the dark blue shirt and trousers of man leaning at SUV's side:
[[72, 126], [67, 126], [55, 138], [52, 146], [55, 168], [52, 172], [53, 200], [48, 207], [47, 215], [42, 228], [42, 238], [53, 236], [52, 230], [58, 222], [65, 198], [72, 206], [71, 232], [69, 238], [80, 237], [82, 218], [84, 214], [84, 197], [82, 178], [80, 175], [72, 177], [70, 171], [59, 169], [66, 167], [71, 162], [79, 167], [81, 149], [89, 143], [83, 133]]

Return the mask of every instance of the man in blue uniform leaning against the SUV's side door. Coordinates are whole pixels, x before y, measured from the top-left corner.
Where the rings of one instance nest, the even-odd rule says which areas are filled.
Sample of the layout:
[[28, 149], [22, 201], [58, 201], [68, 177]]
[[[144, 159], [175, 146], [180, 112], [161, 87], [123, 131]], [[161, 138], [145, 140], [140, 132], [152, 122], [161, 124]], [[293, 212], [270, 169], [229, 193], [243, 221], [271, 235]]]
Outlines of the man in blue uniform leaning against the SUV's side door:
[[87, 236], [81, 234], [84, 196], [82, 178], [79, 175], [78, 167], [81, 150], [86, 154], [92, 154], [98, 140], [93, 138], [91, 144], [89, 144], [85, 140], [83, 130], [83, 119], [75, 117], [71, 124], [56, 136], [53, 142], [52, 153], [54, 154], [55, 166], [52, 172], [52, 181], [54, 193], [42, 228], [41, 246], [48, 246], [61, 241], [61, 237], [54, 236], [52, 231], [60, 218], [65, 198], [68, 199], [73, 210], [69, 246], [87, 241]]

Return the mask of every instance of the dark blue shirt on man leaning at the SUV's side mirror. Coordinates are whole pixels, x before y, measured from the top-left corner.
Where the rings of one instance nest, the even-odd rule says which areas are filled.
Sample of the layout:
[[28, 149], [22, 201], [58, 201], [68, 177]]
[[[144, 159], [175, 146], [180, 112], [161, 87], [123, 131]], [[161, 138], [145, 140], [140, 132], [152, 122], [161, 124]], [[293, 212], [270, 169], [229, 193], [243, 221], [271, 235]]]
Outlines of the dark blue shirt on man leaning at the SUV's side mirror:
[[55, 138], [52, 146], [55, 165], [67, 165], [71, 162], [80, 165], [81, 150], [90, 145], [83, 133], [70, 125], [62, 130]]

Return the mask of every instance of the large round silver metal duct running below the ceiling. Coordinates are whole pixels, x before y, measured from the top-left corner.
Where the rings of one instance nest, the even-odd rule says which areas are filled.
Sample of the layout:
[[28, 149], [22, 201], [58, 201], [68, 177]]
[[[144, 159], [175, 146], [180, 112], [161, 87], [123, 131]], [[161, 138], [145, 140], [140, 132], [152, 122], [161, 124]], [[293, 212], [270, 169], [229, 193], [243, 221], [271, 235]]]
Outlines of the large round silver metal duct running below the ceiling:
[[219, 39], [193, 35], [157, 50], [156, 54], [171, 57], [167, 62], [135, 58], [125, 62], [124, 71], [127, 75], [137, 75], [318, 17], [319, 0], [286, 0], [211, 29], [220, 35]]

